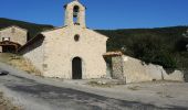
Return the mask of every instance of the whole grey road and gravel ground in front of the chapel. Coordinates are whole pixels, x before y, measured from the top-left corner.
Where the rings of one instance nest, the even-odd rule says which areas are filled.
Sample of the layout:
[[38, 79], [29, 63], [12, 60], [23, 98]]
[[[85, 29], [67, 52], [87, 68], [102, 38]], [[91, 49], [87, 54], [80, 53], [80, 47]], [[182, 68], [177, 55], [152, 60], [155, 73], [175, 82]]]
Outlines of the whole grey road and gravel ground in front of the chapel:
[[[176, 92], [170, 91], [166, 95], [157, 91], [161, 86], [158, 84], [155, 87], [150, 84], [135, 84], [93, 88], [82, 81], [52, 80], [27, 75], [3, 64], [0, 67], [10, 72], [8, 76], [0, 76], [1, 90], [25, 110], [188, 110], [187, 91], [181, 92], [187, 98], [174, 96]], [[179, 85], [176, 84], [175, 88]], [[171, 84], [164, 86], [174, 89], [170, 88]], [[188, 89], [187, 85], [181, 86], [184, 90]], [[158, 101], [169, 105], [160, 107], [156, 105]]]

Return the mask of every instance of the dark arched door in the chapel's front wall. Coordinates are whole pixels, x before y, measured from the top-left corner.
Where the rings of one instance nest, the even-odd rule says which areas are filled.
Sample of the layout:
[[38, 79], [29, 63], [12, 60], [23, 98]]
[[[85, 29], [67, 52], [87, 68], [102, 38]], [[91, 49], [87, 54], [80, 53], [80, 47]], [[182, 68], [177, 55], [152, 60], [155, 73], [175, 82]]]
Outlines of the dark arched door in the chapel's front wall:
[[72, 78], [82, 79], [82, 59], [80, 57], [72, 61]]

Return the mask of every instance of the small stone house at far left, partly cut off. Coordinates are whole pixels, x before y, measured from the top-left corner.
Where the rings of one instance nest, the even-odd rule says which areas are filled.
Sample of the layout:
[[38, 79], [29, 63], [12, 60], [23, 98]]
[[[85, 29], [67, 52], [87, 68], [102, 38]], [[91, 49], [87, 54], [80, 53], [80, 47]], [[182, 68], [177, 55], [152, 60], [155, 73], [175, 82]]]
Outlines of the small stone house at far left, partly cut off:
[[0, 30], [0, 53], [17, 53], [27, 43], [28, 30], [12, 25]]

